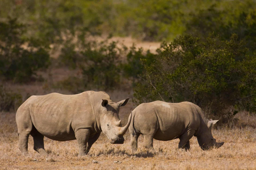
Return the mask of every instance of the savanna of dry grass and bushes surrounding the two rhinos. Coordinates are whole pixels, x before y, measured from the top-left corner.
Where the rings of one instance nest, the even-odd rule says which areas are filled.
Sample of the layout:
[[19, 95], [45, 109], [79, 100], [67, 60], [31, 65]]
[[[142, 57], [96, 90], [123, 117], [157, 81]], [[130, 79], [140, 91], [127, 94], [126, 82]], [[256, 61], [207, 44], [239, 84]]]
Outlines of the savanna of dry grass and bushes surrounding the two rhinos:
[[[0, 1], [0, 169], [256, 169], [256, 1]], [[104, 134], [89, 155], [76, 141], [45, 138], [49, 157], [18, 149], [15, 111], [31, 95], [106, 91], [140, 103], [191, 101], [220, 120], [225, 144], [154, 141], [156, 154], [132, 154], [130, 135]]]

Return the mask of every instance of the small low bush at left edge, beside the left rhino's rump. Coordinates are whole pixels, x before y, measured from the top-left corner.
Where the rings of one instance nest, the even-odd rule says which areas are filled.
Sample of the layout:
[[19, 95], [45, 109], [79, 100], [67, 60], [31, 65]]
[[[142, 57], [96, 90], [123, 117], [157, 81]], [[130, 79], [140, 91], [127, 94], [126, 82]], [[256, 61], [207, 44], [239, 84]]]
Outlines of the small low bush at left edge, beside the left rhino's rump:
[[0, 85], [0, 111], [16, 111], [22, 103], [22, 96]]

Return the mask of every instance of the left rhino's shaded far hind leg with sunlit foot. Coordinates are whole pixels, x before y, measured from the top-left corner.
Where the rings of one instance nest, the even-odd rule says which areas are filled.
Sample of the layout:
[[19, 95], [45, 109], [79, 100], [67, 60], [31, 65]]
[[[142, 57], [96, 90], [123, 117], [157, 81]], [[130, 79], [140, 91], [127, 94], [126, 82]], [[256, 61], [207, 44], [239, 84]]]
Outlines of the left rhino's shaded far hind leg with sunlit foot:
[[34, 140], [34, 150], [37, 151], [40, 155], [47, 156], [44, 149], [44, 136], [39, 133], [35, 128], [31, 131], [31, 136]]

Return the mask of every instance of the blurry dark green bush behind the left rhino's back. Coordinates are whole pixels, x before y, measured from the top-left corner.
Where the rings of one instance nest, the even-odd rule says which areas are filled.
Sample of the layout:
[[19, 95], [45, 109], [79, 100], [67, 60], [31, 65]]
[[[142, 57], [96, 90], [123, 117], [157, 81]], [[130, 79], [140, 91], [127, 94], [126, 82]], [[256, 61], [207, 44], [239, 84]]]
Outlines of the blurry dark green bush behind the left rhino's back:
[[121, 82], [121, 56], [126, 50], [127, 47], [118, 47], [115, 41], [98, 43], [81, 36], [76, 44], [64, 45], [60, 60], [71, 69], [82, 71], [84, 88], [107, 90]]

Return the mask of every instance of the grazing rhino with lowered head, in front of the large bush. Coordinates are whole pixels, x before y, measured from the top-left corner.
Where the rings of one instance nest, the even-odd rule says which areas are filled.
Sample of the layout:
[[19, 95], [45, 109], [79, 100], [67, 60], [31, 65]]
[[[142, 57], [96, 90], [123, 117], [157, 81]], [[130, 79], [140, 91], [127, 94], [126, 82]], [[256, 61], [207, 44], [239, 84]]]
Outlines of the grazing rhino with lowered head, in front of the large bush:
[[217, 121], [207, 120], [203, 111], [190, 102], [166, 103], [154, 101], [143, 103], [132, 111], [132, 121], [129, 126], [131, 133], [131, 147], [137, 150], [138, 137], [143, 135], [143, 145], [153, 149], [153, 138], [168, 141], [180, 139], [179, 148], [189, 149], [189, 139], [197, 137], [199, 146], [203, 150], [221, 147], [212, 137], [212, 125]]

